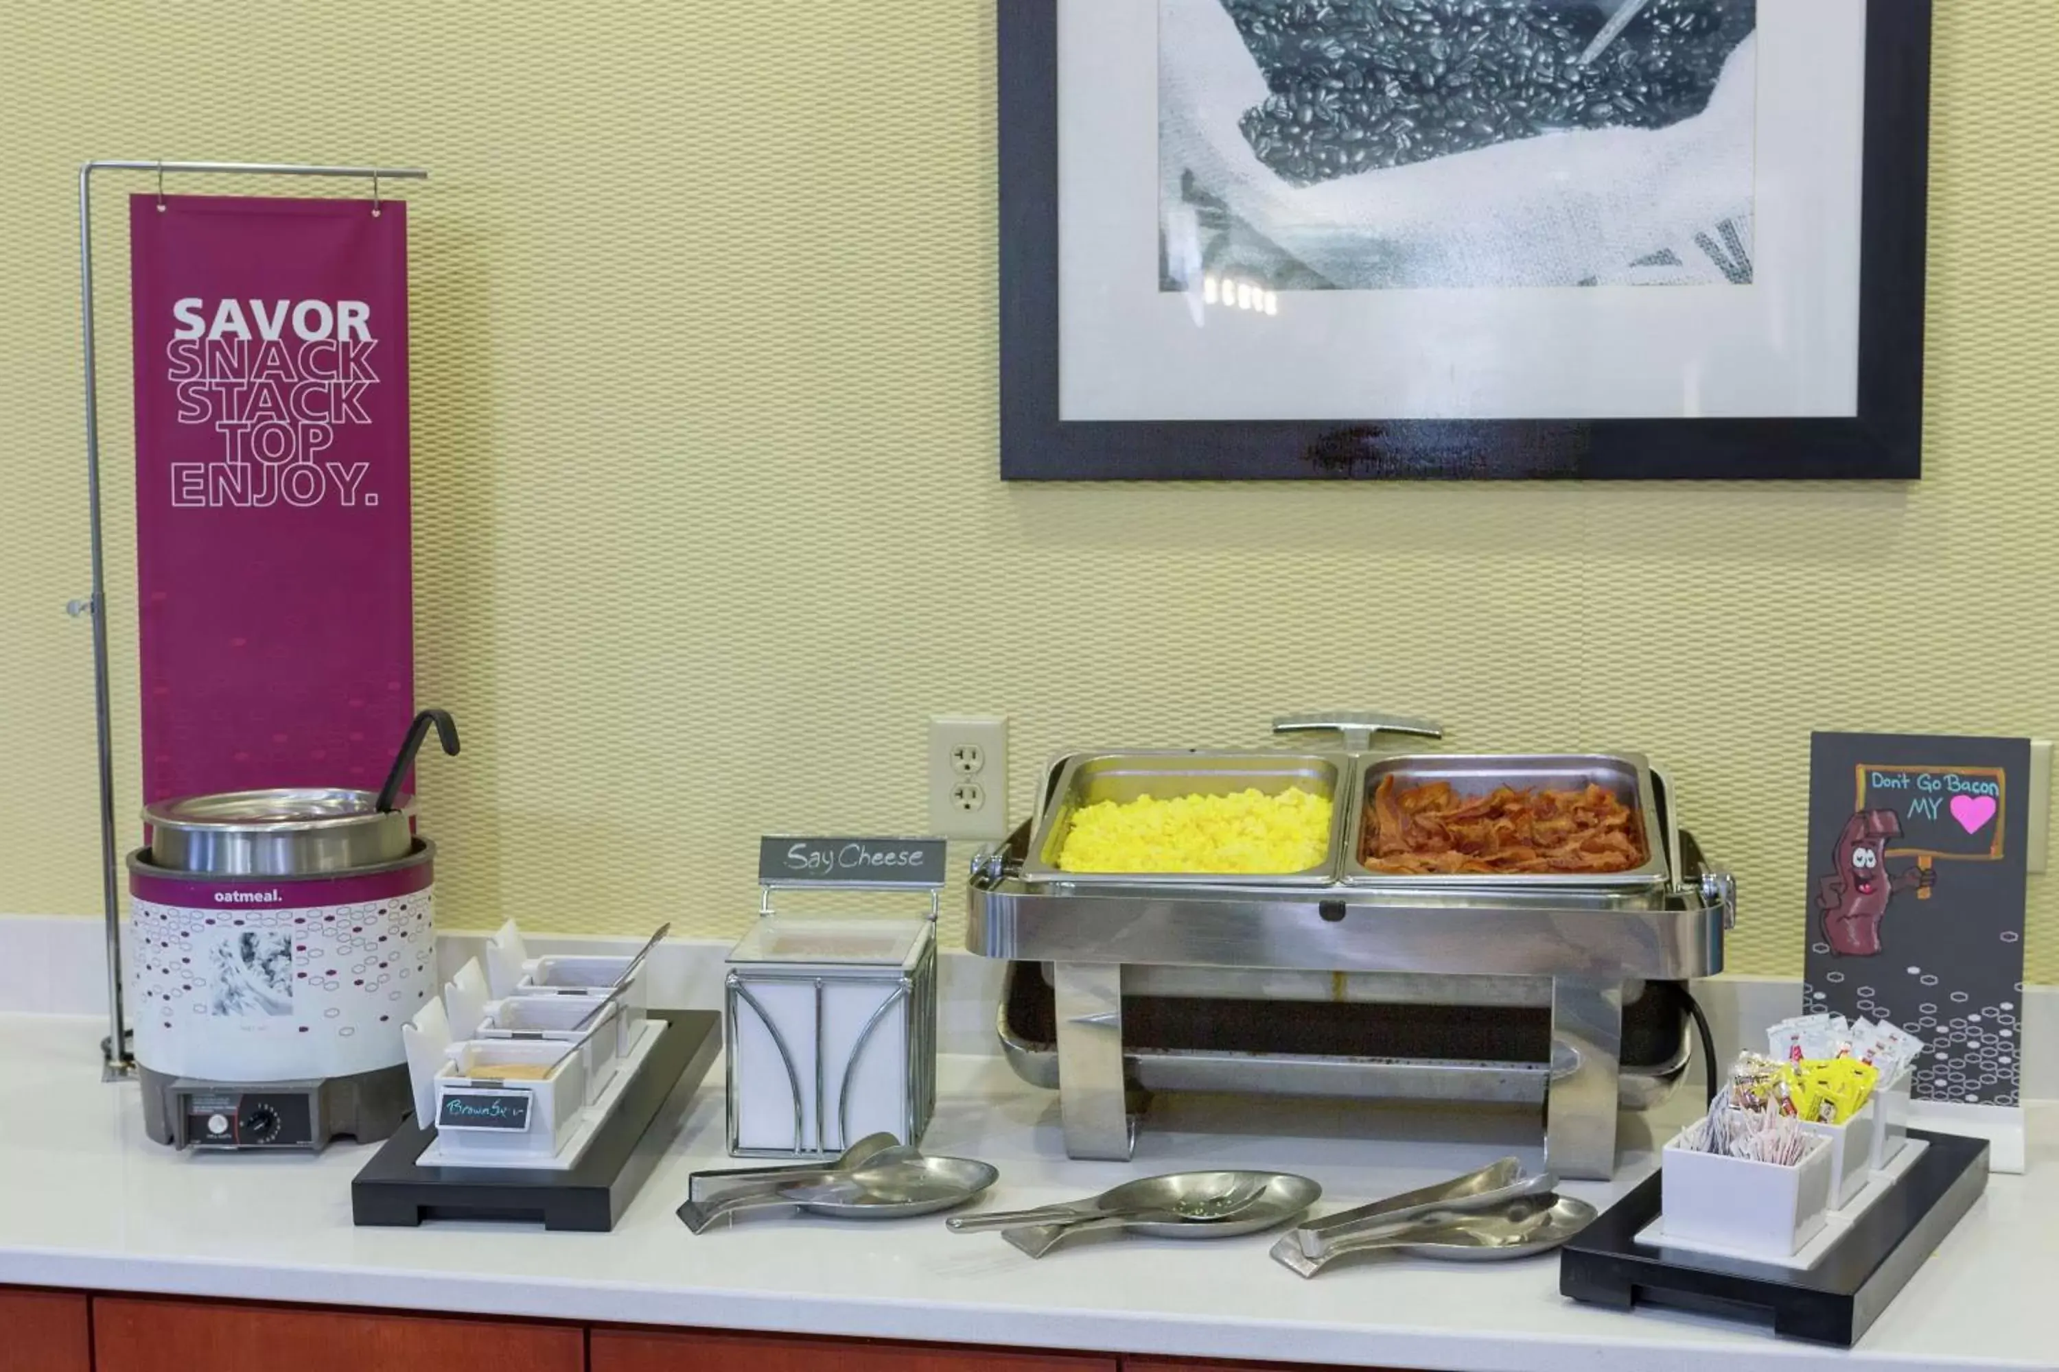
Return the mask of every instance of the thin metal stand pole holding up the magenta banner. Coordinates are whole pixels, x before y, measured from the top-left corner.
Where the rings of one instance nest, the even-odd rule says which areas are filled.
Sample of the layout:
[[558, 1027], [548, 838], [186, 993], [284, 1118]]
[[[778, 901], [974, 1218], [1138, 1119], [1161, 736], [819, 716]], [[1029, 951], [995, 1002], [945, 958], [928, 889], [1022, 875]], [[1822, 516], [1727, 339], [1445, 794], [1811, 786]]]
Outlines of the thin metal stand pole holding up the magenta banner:
[[86, 518], [93, 525], [93, 590], [70, 601], [64, 613], [93, 619], [93, 722], [99, 730], [101, 765], [101, 899], [107, 911], [107, 1037], [101, 1041], [101, 1080], [136, 1076], [130, 1033], [121, 1016], [121, 887], [115, 843], [115, 759], [113, 716], [107, 685], [107, 578], [101, 557], [101, 405], [93, 354], [93, 173], [156, 173], [159, 210], [165, 208], [165, 173], [216, 173], [231, 177], [350, 177], [373, 183], [373, 214], [379, 214], [379, 181], [424, 181], [414, 167], [305, 167], [296, 163], [165, 163], [140, 158], [99, 158], [78, 169], [78, 323], [86, 354]]

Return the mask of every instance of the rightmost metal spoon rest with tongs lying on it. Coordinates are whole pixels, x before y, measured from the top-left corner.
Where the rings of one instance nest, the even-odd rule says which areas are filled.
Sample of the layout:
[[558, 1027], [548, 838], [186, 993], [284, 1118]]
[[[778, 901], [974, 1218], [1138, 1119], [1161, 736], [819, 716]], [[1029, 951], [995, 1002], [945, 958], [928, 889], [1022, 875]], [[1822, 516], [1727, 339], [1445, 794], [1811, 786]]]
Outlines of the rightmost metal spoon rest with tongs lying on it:
[[1377, 1249], [1460, 1261], [1513, 1259], [1557, 1249], [1594, 1214], [1585, 1201], [1561, 1197], [1555, 1175], [1524, 1177], [1515, 1158], [1501, 1158], [1476, 1172], [1303, 1224], [1272, 1244], [1272, 1259], [1301, 1277]]

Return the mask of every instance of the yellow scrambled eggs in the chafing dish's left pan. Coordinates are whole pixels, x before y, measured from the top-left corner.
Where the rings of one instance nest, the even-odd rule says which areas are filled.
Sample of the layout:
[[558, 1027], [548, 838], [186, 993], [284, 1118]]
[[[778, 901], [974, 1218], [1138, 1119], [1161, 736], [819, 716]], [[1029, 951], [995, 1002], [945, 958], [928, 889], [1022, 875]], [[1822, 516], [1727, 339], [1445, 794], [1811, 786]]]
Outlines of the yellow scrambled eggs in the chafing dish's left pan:
[[1330, 802], [1305, 790], [1081, 806], [1058, 852], [1067, 872], [1299, 872], [1330, 856]]

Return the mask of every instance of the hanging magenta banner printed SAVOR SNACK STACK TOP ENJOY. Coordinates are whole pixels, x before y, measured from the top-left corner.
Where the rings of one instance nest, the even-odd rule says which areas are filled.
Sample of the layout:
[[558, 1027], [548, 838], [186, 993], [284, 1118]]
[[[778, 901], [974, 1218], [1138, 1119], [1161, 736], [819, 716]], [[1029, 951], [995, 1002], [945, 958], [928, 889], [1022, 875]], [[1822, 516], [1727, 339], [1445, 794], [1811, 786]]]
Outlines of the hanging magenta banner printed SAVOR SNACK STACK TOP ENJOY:
[[130, 200], [146, 802], [377, 788], [408, 728], [408, 212], [379, 210]]

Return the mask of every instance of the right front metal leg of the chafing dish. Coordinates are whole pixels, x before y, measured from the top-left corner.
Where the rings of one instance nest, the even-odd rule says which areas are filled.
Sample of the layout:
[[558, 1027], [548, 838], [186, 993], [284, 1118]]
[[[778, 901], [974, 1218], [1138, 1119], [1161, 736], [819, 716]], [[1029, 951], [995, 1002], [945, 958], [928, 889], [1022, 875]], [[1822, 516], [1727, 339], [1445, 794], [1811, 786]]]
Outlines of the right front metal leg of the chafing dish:
[[1622, 983], [1552, 977], [1550, 1086], [1544, 1090], [1546, 1170], [1592, 1181], [1614, 1175], [1620, 1070]]

